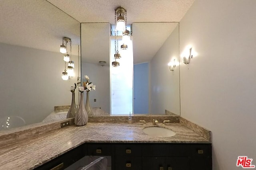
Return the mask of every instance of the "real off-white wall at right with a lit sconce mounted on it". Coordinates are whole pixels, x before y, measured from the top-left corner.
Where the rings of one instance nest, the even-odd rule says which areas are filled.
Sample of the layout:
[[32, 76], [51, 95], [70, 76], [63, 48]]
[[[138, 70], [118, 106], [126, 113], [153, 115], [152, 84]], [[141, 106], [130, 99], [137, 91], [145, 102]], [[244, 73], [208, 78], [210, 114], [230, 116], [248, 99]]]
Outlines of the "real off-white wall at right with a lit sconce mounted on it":
[[255, 11], [255, 0], [196, 0], [180, 21], [181, 53], [197, 53], [180, 66], [181, 116], [212, 131], [213, 170], [241, 170], [238, 156], [256, 165]]

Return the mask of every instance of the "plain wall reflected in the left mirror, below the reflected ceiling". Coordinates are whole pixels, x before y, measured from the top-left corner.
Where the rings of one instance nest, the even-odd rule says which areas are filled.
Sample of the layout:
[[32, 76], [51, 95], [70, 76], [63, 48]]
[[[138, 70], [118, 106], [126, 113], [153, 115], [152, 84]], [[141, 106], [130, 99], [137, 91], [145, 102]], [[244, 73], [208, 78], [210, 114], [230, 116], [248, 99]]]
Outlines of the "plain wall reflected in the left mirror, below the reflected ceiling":
[[[26, 124], [37, 123], [54, 106], [71, 104], [70, 86], [76, 78], [62, 80], [61, 53], [3, 43], [0, 51], [0, 118], [13, 115], [25, 119]], [[77, 77], [78, 57], [73, 56], [73, 61]]]

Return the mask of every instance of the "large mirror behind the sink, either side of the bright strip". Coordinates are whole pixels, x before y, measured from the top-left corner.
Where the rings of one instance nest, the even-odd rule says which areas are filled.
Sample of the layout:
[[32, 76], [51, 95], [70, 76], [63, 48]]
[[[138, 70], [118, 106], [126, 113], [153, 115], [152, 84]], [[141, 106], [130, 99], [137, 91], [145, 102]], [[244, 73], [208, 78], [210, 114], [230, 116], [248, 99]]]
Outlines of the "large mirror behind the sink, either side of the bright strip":
[[[110, 23], [81, 23], [81, 75], [88, 75], [96, 85], [96, 91], [90, 92], [91, 106], [106, 113], [111, 111], [113, 95], [110, 31]], [[132, 23], [132, 42], [133, 113], [165, 114], [167, 110], [180, 115], [179, 24]], [[106, 66], [99, 61], [106, 61]], [[170, 70], [168, 63], [176, 64], [174, 70]]]

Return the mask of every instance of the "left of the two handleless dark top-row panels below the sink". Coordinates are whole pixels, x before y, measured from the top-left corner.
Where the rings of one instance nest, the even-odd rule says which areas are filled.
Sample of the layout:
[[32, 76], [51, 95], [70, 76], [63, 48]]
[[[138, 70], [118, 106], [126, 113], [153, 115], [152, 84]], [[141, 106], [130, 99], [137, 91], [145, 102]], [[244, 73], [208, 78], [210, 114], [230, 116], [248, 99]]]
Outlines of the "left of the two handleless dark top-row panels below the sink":
[[143, 156], [169, 156], [169, 145], [150, 144], [142, 147]]

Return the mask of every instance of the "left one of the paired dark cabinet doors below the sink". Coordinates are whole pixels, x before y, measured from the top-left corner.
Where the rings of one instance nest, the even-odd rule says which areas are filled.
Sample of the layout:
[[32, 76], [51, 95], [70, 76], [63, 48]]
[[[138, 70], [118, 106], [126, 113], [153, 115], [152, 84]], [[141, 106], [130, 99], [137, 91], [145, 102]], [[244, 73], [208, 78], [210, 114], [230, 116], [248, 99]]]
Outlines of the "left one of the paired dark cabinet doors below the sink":
[[164, 156], [142, 157], [142, 170], [166, 170]]

